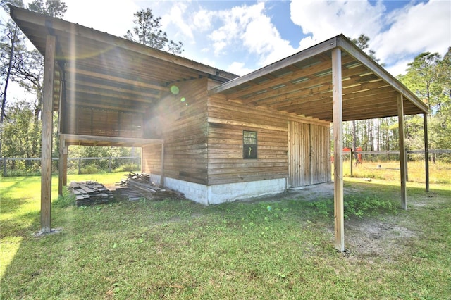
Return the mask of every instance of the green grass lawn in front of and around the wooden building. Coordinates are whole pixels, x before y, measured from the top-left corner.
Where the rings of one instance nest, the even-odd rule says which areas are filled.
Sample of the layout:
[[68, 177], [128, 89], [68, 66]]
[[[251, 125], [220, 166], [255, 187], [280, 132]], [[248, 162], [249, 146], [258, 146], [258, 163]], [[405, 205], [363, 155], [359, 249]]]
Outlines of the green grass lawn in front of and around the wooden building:
[[[68, 180], [118, 182], [122, 173]], [[345, 253], [333, 204], [285, 196], [202, 206], [56, 200], [39, 230], [40, 177], [1, 178], [1, 299], [450, 299], [451, 185], [345, 180]], [[285, 197], [285, 198], [284, 198]]]

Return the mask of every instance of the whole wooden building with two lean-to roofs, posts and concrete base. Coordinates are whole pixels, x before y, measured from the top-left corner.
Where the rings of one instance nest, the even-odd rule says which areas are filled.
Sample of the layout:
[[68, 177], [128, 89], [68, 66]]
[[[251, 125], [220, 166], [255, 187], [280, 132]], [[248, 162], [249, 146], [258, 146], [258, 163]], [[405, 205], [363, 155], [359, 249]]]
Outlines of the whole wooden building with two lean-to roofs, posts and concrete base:
[[[11, 17], [45, 58], [43, 231], [50, 230], [52, 111], [59, 115], [61, 161], [73, 144], [139, 146], [142, 170], [152, 180], [202, 204], [330, 181], [333, 123], [335, 246], [341, 251], [342, 121], [397, 115], [403, 137], [404, 115], [428, 113], [343, 35], [237, 77], [22, 8], [11, 6]], [[405, 159], [401, 199], [407, 208]], [[60, 165], [61, 192], [66, 168]]]

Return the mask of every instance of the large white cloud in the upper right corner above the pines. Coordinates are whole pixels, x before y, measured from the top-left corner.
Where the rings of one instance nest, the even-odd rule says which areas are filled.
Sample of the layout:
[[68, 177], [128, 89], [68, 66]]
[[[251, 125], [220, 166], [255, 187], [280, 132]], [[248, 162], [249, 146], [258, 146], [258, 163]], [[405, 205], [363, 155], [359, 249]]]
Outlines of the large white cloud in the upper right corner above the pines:
[[423, 51], [444, 54], [451, 44], [450, 16], [450, 1], [406, 6], [392, 13], [393, 24], [374, 39], [372, 46], [381, 61], [387, 63]]

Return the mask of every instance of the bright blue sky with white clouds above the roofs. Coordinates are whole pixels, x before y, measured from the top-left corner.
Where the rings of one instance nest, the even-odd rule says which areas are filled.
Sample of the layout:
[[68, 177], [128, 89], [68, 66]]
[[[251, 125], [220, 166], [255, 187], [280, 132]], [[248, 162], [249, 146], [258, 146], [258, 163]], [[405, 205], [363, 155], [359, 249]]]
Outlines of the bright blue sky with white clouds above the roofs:
[[237, 75], [340, 33], [369, 36], [395, 76], [421, 52], [443, 55], [451, 46], [451, 0], [64, 2], [63, 19], [121, 37], [133, 27], [133, 13], [151, 8], [168, 37], [183, 42], [182, 56]]

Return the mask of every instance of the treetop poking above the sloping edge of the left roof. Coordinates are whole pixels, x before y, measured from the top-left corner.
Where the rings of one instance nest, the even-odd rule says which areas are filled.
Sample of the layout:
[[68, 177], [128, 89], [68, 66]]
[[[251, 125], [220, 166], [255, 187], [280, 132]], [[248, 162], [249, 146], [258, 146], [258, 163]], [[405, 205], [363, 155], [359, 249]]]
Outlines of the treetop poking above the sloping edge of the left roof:
[[127, 31], [124, 36], [126, 39], [173, 54], [183, 52], [183, 43], [168, 39], [166, 32], [161, 30], [161, 17], [155, 17], [152, 9], [141, 9], [134, 16], [133, 23], [136, 26]]

